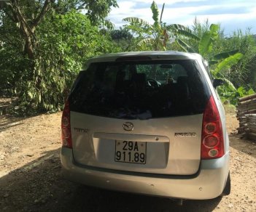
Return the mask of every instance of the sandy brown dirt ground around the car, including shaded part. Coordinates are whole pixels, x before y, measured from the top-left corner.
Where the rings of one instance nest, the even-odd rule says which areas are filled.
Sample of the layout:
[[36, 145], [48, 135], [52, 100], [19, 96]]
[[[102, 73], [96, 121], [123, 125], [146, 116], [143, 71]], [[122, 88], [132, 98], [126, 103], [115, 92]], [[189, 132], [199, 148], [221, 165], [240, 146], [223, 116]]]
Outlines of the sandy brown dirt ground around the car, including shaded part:
[[[10, 99], [0, 99], [0, 110]], [[1, 112], [1, 111], [0, 111]], [[0, 211], [256, 211], [256, 142], [236, 135], [227, 113], [231, 194], [213, 200], [174, 200], [85, 187], [61, 174], [61, 113], [0, 116]]]

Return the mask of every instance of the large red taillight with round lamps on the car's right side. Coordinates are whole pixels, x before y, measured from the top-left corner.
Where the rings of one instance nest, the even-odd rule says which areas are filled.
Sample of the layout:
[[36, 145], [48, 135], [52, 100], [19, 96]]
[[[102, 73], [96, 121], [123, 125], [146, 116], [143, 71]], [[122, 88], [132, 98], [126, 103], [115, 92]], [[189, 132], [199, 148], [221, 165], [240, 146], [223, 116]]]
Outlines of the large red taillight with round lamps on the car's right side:
[[220, 113], [211, 96], [203, 113], [201, 159], [221, 158], [224, 155], [224, 143]]

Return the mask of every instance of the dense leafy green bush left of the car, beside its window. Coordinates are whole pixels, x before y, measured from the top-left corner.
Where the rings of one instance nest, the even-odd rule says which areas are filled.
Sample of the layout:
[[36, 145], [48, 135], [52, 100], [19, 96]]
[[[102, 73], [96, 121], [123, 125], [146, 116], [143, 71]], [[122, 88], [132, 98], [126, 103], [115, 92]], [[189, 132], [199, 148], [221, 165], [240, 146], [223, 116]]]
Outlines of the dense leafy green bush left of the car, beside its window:
[[[20, 110], [61, 110], [64, 89], [70, 88], [90, 57], [115, 51], [88, 17], [75, 10], [46, 17], [37, 31], [40, 60], [31, 78], [24, 73], [18, 87]], [[21, 91], [21, 92], [20, 92]]]

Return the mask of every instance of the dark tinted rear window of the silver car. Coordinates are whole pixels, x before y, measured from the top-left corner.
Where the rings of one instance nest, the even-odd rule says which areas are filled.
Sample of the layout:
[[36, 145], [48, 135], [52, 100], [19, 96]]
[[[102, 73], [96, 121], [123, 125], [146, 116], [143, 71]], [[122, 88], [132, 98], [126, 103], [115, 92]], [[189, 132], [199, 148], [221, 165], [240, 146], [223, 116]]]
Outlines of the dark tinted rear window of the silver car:
[[195, 60], [96, 62], [81, 71], [71, 111], [149, 119], [203, 113], [209, 89]]

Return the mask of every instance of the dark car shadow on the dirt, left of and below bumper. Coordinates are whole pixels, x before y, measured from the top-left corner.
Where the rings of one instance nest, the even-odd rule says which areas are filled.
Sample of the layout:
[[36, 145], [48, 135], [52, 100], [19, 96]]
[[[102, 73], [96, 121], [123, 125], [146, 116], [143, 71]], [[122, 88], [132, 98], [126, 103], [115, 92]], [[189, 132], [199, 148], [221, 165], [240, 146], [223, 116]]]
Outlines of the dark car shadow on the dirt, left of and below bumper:
[[134, 195], [66, 181], [60, 149], [0, 178], [0, 211], [213, 211], [221, 197], [186, 200]]

